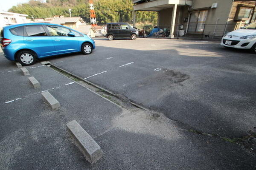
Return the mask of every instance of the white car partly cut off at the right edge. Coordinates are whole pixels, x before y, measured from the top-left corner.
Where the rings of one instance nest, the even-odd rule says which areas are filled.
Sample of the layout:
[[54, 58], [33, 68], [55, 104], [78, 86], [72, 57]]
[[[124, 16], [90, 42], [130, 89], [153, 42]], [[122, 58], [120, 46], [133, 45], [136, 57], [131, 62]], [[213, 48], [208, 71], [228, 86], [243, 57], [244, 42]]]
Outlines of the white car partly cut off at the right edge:
[[221, 45], [224, 47], [249, 49], [251, 52], [256, 53], [256, 22], [227, 33], [222, 38]]

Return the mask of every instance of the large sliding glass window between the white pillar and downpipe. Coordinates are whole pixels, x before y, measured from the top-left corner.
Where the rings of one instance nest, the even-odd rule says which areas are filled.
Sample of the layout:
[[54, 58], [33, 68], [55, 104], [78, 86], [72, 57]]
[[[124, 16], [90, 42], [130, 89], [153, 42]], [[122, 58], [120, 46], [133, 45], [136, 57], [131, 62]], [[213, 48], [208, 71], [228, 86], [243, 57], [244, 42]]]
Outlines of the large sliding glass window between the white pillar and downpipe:
[[208, 10], [191, 12], [188, 32], [203, 32], [207, 14]]

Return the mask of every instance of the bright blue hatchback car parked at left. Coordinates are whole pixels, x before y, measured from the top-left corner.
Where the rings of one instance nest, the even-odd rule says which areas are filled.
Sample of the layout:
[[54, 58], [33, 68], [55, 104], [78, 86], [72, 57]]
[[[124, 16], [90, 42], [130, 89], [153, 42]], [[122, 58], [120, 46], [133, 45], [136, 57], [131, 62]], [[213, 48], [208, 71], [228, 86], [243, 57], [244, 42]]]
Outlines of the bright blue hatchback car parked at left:
[[32, 65], [44, 57], [81, 52], [91, 54], [93, 39], [71, 28], [49, 23], [28, 23], [3, 27], [4, 56], [21, 65]]

